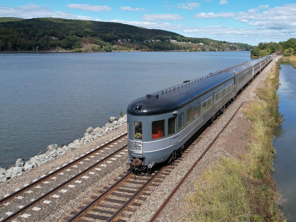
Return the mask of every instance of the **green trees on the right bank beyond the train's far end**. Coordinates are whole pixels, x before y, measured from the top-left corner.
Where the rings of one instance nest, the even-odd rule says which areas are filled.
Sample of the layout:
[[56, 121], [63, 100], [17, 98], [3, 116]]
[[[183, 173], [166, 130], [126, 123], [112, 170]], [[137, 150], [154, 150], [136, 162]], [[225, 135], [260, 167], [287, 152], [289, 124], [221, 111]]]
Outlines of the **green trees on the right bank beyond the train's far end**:
[[280, 53], [284, 56], [295, 55], [296, 52], [296, 38], [290, 38], [284, 42], [260, 42], [258, 46], [251, 50], [252, 58], [259, 58], [271, 53]]

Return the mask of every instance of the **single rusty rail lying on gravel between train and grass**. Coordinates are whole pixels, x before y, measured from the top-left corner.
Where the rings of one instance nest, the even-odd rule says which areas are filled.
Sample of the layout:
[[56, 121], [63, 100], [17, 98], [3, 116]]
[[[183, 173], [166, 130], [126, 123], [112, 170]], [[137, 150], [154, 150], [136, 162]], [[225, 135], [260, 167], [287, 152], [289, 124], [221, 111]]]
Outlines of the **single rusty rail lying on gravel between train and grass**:
[[192, 170], [194, 169], [194, 167], [197, 165], [197, 163], [202, 159], [202, 157], [205, 155], [205, 153], [210, 149], [210, 147], [213, 145], [213, 143], [218, 139], [218, 137], [220, 136], [220, 134], [225, 130], [225, 128], [228, 126], [228, 124], [230, 123], [230, 121], [234, 118], [234, 116], [237, 114], [237, 112], [239, 111], [240, 107], [242, 107], [242, 105], [245, 102], [242, 102], [242, 104], [238, 107], [238, 109], [235, 111], [235, 113], [232, 115], [232, 117], [230, 118], [230, 120], [228, 120], [228, 122], [226, 123], [226, 125], [221, 129], [221, 131], [218, 133], [218, 135], [213, 139], [213, 141], [208, 145], [208, 147], [204, 150], [204, 152], [200, 155], [200, 157], [195, 161], [195, 163], [192, 165], [192, 167], [187, 171], [187, 173], [185, 174], [185, 176], [181, 179], [181, 181], [177, 184], [177, 186], [173, 189], [173, 191], [170, 193], [170, 195], [165, 199], [165, 201], [163, 202], [163, 204], [158, 208], [158, 210], [155, 212], [155, 214], [152, 216], [152, 218], [149, 220], [149, 222], [153, 222], [155, 221], [155, 219], [158, 217], [158, 215], [161, 213], [161, 211], [165, 208], [165, 206], [168, 204], [168, 202], [170, 201], [170, 199], [173, 197], [173, 195], [177, 192], [177, 190], [180, 188], [180, 186], [183, 184], [183, 182], [185, 181], [185, 179], [187, 178], [187, 176], [192, 172]]

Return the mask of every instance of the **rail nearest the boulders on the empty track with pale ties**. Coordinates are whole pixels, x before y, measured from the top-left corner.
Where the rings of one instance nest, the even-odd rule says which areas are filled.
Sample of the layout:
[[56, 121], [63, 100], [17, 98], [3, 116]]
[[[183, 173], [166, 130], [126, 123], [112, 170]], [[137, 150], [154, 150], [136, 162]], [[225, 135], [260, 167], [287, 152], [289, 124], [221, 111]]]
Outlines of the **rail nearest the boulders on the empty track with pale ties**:
[[27, 186], [19, 189], [18, 191], [13, 192], [12, 194], [9, 194], [7, 197], [4, 197], [4, 198], [2, 198], [0, 200], [0, 205], [6, 203], [7, 201], [11, 200], [12, 198], [14, 198], [14, 197], [16, 197], [18, 195], [20, 195], [21, 193], [25, 192], [26, 190], [29, 190], [30, 188], [36, 186], [37, 184], [40, 184], [41, 182], [46, 181], [50, 177], [52, 177], [52, 176], [54, 176], [54, 175], [62, 172], [63, 170], [69, 168], [70, 166], [75, 165], [76, 163], [80, 162], [82, 159], [91, 156], [92, 154], [94, 154], [95, 152], [99, 151], [100, 149], [103, 149], [104, 147], [108, 146], [109, 144], [120, 140], [122, 137], [126, 136], [126, 134], [127, 133], [124, 133], [123, 135], [118, 136], [116, 139], [113, 139], [112, 141], [109, 141], [109, 142], [105, 143], [104, 145], [100, 146], [99, 148], [96, 148], [93, 151], [91, 151], [91, 152], [83, 155], [82, 157], [79, 157], [78, 159], [74, 160], [73, 162], [68, 163], [67, 165], [65, 165], [65, 166], [63, 166], [63, 167], [61, 167], [61, 168], [59, 168], [57, 170], [54, 170], [52, 173], [49, 173], [46, 176], [41, 177], [37, 181], [35, 181], [33, 183], [30, 183], [29, 185], [27, 185]]

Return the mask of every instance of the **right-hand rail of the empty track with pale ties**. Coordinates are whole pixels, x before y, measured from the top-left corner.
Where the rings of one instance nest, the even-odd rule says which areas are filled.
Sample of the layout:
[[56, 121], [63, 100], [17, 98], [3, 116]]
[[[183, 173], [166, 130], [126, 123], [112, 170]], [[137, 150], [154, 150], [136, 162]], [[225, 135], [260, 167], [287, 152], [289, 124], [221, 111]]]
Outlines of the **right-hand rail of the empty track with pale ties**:
[[0, 222], [8, 222], [11, 221], [12, 219], [16, 218], [18, 215], [20, 215], [21, 213], [27, 211], [31, 206], [37, 204], [38, 202], [40, 202], [41, 200], [45, 199], [46, 197], [49, 197], [50, 194], [56, 192], [58, 189], [66, 186], [67, 184], [70, 184], [72, 181], [74, 181], [76, 178], [82, 176], [83, 174], [87, 173], [88, 171], [92, 170], [93, 168], [95, 168], [97, 165], [99, 165], [100, 163], [102, 163], [103, 161], [109, 159], [111, 156], [115, 155], [116, 153], [120, 152], [122, 149], [125, 149], [127, 147], [127, 144], [124, 145], [123, 147], [120, 147], [119, 149], [117, 149], [116, 151], [112, 152], [110, 155], [102, 158], [101, 160], [99, 160], [97, 163], [94, 163], [93, 165], [91, 165], [90, 167], [86, 168], [85, 170], [81, 171], [80, 173], [74, 175], [73, 177], [71, 177], [70, 179], [66, 180], [65, 182], [63, 182], [62, 184], [59, 184], [58, 186], [56, 186], [55, 188], [51, 189], [50, 191], [48, 191], [47, 193], [43, 194], [42, 196], [38, 197], [37, 199], [35, 199], [34, 201], [28, 203], [27, 205], [25, 205], [24, 207], [22, 207], [20, 210], [17, 210], [16, 212], [12, 213], [11, 215], [9, 215], [8, 217], [4, 218], [3, 220], [1, 220]]

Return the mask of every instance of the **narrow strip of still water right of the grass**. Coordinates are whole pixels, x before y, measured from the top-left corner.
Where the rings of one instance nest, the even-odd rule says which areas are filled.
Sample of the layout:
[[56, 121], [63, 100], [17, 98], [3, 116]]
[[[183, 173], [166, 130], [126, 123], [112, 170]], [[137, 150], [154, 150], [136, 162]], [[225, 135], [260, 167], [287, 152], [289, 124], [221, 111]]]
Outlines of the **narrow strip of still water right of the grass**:
[[273, 145], [277, 157], [274, 160], [273, 176], [283, 199], [287, 200], [283, 207], [287, 218], [296, 221], [296, 69], [289, 62], [283, 61], [279, 74], [279, 112], [284, 114], [285, 123], [275, 132]]

